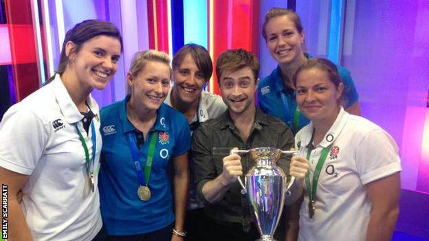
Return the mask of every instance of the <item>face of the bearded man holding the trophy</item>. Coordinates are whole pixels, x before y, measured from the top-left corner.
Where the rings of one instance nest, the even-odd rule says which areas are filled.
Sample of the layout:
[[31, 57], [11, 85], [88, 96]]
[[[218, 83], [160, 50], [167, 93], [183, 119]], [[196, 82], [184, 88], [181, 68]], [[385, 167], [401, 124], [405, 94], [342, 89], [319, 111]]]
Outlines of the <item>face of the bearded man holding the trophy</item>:
[[257, 88], [254, 72], [250, 67], [225, 71], [219, 78], [223, 102], [231, 114], [242, 114], [254, 107], [254, 92]]

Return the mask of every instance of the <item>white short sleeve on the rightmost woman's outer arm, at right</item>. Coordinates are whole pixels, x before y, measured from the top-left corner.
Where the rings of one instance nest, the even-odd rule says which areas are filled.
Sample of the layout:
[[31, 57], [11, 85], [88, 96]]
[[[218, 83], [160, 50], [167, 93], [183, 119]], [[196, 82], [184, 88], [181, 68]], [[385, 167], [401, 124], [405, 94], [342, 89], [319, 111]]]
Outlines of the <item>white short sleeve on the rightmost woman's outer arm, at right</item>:
[[382, 129], [366, 134], [358, 144], [355, 156], [356, 168], [364, 185], [402, 170], [397, 145]]

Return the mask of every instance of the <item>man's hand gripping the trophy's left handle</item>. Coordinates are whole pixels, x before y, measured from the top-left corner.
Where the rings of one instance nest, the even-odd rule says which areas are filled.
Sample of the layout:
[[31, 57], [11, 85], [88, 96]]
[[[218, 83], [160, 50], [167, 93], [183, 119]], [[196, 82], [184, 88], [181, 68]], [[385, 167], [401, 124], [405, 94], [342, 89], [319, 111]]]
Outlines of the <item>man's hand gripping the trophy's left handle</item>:
[[[238, 150], [234, 148], [233, 150]], [[241, 157], [239, 154], [229, 154], [223, 157], [223, 185], [230, 185], [237, 181], [237, 176], [243, 175], [243, 167], [241, 166]]]

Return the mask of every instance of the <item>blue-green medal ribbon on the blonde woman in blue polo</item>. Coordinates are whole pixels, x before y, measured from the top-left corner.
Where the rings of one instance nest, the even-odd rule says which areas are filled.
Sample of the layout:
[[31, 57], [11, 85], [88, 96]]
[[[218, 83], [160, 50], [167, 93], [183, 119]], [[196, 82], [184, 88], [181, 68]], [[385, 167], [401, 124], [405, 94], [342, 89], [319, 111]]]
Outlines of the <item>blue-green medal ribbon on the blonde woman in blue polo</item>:
[[149, 143], [149, 150], [146, 158], [146, 166], [144, 167], [144, 179], [143, 179], [143, 171], [140, 166], [140, 159], [138, 157], [137, 144], [135, 144], [135, 133], [131, 131], [127, 134], [128, 136], [128, 145], [131, 150], [131, 156], [133, 157], [133, 163], [135, 167], [135, 172], [137, 173], [137, 177], [139, 179], [140, 185], [144, 185], [146, 182], [146, 187], [149, 183], [149, 176], [151, 175], [152, 169], [152, 161], [153, 161], [153, 153], [155, 152], [155, 146], [157, 141], [158, 132], [154, 130], [151, 133], [151, 142]]

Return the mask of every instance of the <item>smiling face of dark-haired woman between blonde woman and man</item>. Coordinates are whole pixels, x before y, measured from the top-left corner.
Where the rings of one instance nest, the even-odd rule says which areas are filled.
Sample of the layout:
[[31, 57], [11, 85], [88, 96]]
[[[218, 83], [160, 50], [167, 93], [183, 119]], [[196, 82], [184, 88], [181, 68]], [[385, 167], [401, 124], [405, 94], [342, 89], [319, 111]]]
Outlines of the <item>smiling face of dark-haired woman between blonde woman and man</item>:
[[172, 95], [189, 105], [199, 101], [199, 95], [206, 84], [203, 72], [198, 69], [190, 54], [187, 54], [179, 67], [176, 67], [173, 81]]

